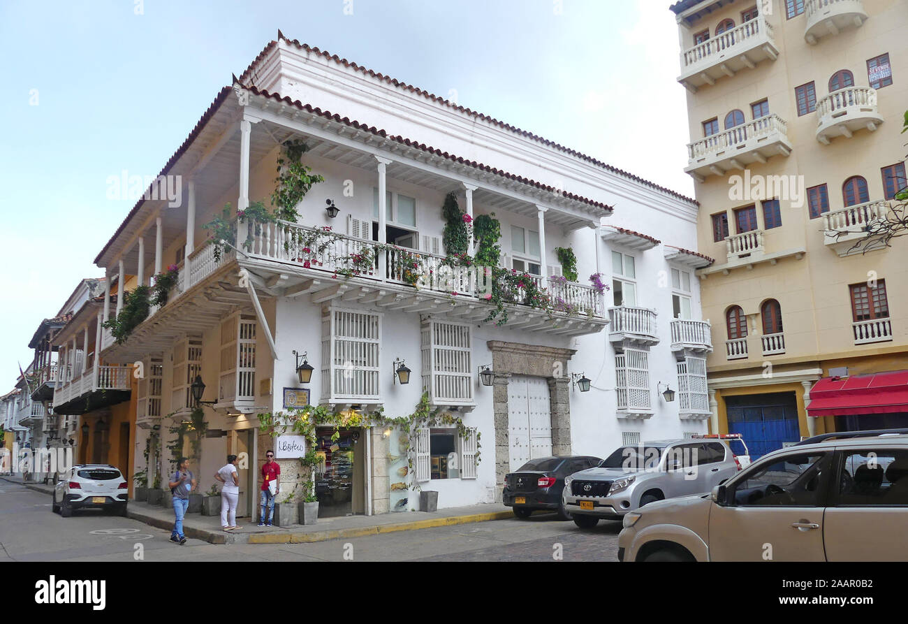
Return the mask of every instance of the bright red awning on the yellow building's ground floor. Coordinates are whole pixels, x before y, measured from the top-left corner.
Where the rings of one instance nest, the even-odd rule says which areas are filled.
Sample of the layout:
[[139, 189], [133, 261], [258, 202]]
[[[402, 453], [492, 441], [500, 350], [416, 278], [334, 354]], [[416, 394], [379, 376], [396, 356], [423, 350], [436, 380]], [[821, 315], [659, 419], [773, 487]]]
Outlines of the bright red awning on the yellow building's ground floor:
[[826, 377], [810, 391], [807, 415], [851, 416], [908, 412], [908, 371]]

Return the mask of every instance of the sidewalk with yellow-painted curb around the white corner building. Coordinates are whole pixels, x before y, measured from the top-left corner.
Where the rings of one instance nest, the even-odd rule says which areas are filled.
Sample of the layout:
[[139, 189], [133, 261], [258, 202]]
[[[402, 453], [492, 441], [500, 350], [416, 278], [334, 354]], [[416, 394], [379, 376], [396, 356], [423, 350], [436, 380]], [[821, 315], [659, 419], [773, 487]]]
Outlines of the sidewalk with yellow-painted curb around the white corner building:
[[[53, 494], [54, 486], [42, 483], [23, 483], [21, 478], [0, 477], [11, 483], [25, 485], [30, 490]], [[147, 502], [129, 501], [127, 514], [158, 529], [173, 529], [173, 510]], [[221, 529], [220, 516], [187, 514], [183, 519], [186, 537], [204, 540], [212, 544], [287, 544], [310, 543], [314, 541], [360, 538], [367, 535], [392, 533], [400, 530], [431, 529], [471, 522], [506, 520], [513, 518], [510, 508], [501, 503], [452, 507], [432, 512], [401, 511], [383, 513], [378, 516], [346, 516], [342, 518], [320, 518], [317, 524], [290, 527], [259, 527], [248, 519], [238, 519], [240, 529], [226, 532]]]

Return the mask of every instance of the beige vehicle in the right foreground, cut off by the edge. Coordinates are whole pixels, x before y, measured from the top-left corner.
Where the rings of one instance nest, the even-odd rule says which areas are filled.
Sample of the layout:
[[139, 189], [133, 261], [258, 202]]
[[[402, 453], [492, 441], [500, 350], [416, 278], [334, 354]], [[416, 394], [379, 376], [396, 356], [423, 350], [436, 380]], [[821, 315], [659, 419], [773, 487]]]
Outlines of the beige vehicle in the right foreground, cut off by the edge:
[[627, 561], [904, 561], [908, 435], [766, 454], [711, 494], [628, 513]]

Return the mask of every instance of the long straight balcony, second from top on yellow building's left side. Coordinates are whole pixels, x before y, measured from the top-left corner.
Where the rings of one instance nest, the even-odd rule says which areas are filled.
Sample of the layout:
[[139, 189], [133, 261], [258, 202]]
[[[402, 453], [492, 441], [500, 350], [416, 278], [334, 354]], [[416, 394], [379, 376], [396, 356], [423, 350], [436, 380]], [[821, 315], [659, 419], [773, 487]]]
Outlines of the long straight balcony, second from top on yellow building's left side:
[[765, 163], [773, 156], [787, 156], [792, 149], [788, 124], [775, 113], [767, 114], [688, 144], [685, 172], [702, 182], [709, 175], [744, 171], [748, 165]]

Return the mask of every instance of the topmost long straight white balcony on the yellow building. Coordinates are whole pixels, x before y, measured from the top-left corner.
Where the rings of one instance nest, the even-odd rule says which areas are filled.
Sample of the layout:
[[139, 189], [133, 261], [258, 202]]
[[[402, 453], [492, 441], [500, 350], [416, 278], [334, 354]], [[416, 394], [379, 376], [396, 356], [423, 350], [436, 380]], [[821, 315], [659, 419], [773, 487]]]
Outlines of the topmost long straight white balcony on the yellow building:
[[775, 61], [778, 55], [773, 27], [759, 15], [682, 52], [678, 82], [696, 93], [705, 84], [716, 84], [716, 80], [753, 69], [765, 60]]

